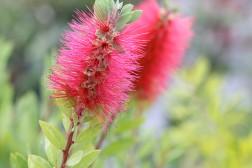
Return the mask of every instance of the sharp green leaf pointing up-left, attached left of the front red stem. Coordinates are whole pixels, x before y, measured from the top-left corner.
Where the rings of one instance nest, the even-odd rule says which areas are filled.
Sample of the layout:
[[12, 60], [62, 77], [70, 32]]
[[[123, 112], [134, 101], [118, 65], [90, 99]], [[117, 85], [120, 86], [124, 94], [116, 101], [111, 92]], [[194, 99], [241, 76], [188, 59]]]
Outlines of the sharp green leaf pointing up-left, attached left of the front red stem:
[[66, 139], [60, 130], [44, 121], [39, 121], [40, 127], [46, 138], [58, 149], [63, 150], [66, 146]]

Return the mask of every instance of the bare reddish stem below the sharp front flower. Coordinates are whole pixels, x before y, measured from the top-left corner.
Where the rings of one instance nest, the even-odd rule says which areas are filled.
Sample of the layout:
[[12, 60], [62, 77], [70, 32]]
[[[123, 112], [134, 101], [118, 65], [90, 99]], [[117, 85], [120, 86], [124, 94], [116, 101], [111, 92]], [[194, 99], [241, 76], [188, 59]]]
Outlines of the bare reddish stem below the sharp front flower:
[[74, 141], [73, 141], [73, 135], [74, 135], [74, 131], [75, 131], [75, 129], [73, 129], [74, 128], [74, 122], [73, 122], [72, 118], [70, 119], [70, 121], [71, 121], [71, 126], [70, 126], [70, 129], [69, 129], [68, 135], [67, 135], [66, 148], [64, 150], [62, 150], [63, 158], [62, 158], [61, 168], [66, 168], [66, 162], [67, 162], [67, 159], [68, 159], [69, 154], [70, 154], [70, 149], [71, 149], [72, 144], [74, 144]]

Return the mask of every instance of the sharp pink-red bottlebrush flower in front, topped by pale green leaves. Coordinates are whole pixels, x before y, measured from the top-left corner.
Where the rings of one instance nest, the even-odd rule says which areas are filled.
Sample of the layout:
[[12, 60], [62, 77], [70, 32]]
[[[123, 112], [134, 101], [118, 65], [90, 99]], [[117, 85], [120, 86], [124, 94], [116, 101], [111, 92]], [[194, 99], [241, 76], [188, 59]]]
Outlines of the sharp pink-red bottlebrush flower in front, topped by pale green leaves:
[[97, 0], [94, 13], [78, 11], [71, 30], [64, 34], [49, 86], [53, 97], [70, 102], [77, 116], [87, 112], [111, 121], [123, 109], [142, 46], [135, 28], [125, 27], [141, 14], [132, 8]]

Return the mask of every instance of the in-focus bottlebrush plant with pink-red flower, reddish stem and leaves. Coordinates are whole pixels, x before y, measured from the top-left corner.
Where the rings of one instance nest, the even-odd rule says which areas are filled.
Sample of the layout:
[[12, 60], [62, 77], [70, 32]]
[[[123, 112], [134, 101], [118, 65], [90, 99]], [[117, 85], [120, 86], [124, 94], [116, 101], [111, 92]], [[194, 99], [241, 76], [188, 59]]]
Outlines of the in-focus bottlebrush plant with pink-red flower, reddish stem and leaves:
[[[80, 149], [69, 159], [72, 146], [98, 135], [100, 122], [112, 122], [129, 98], [142, 46], [134, 32], [136, 27], [129, 24], [140, 17], [141, 11], [113, 0], [96, 0], [93, 9], [89, 13], [77, 11], [77, 19], [70, 23], [71, 30], [63, 35], [49, 76], [52, 97], [63, 112], [67, 138], [53, 125], [40, 121], [51, 163], [30, 155], [29, 167], [91, 165], [99, 150], [84, 154]], [[95, 128], [78, 131], [87, 121], [89, 128], [96, 125]]]

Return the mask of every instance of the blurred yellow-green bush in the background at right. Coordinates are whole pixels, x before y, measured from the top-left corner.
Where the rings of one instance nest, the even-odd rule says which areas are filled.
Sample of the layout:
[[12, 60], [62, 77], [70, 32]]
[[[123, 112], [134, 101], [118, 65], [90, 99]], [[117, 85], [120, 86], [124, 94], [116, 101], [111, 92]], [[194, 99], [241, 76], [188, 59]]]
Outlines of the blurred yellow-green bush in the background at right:
[[251, 137], [251, 111], [241, 98], [225, 98], [224, 87], [223, 77], [211, 73], [205, 59], [180, 71], [167, 94], [170, 125], [158, 144], [149, 145], [153, 154], [141, 144], [139, 150], [147, 151], [141, 164], [151, 158], [151, 167], [249, 167], [249, 153], [242, 160], [240, 153]]

